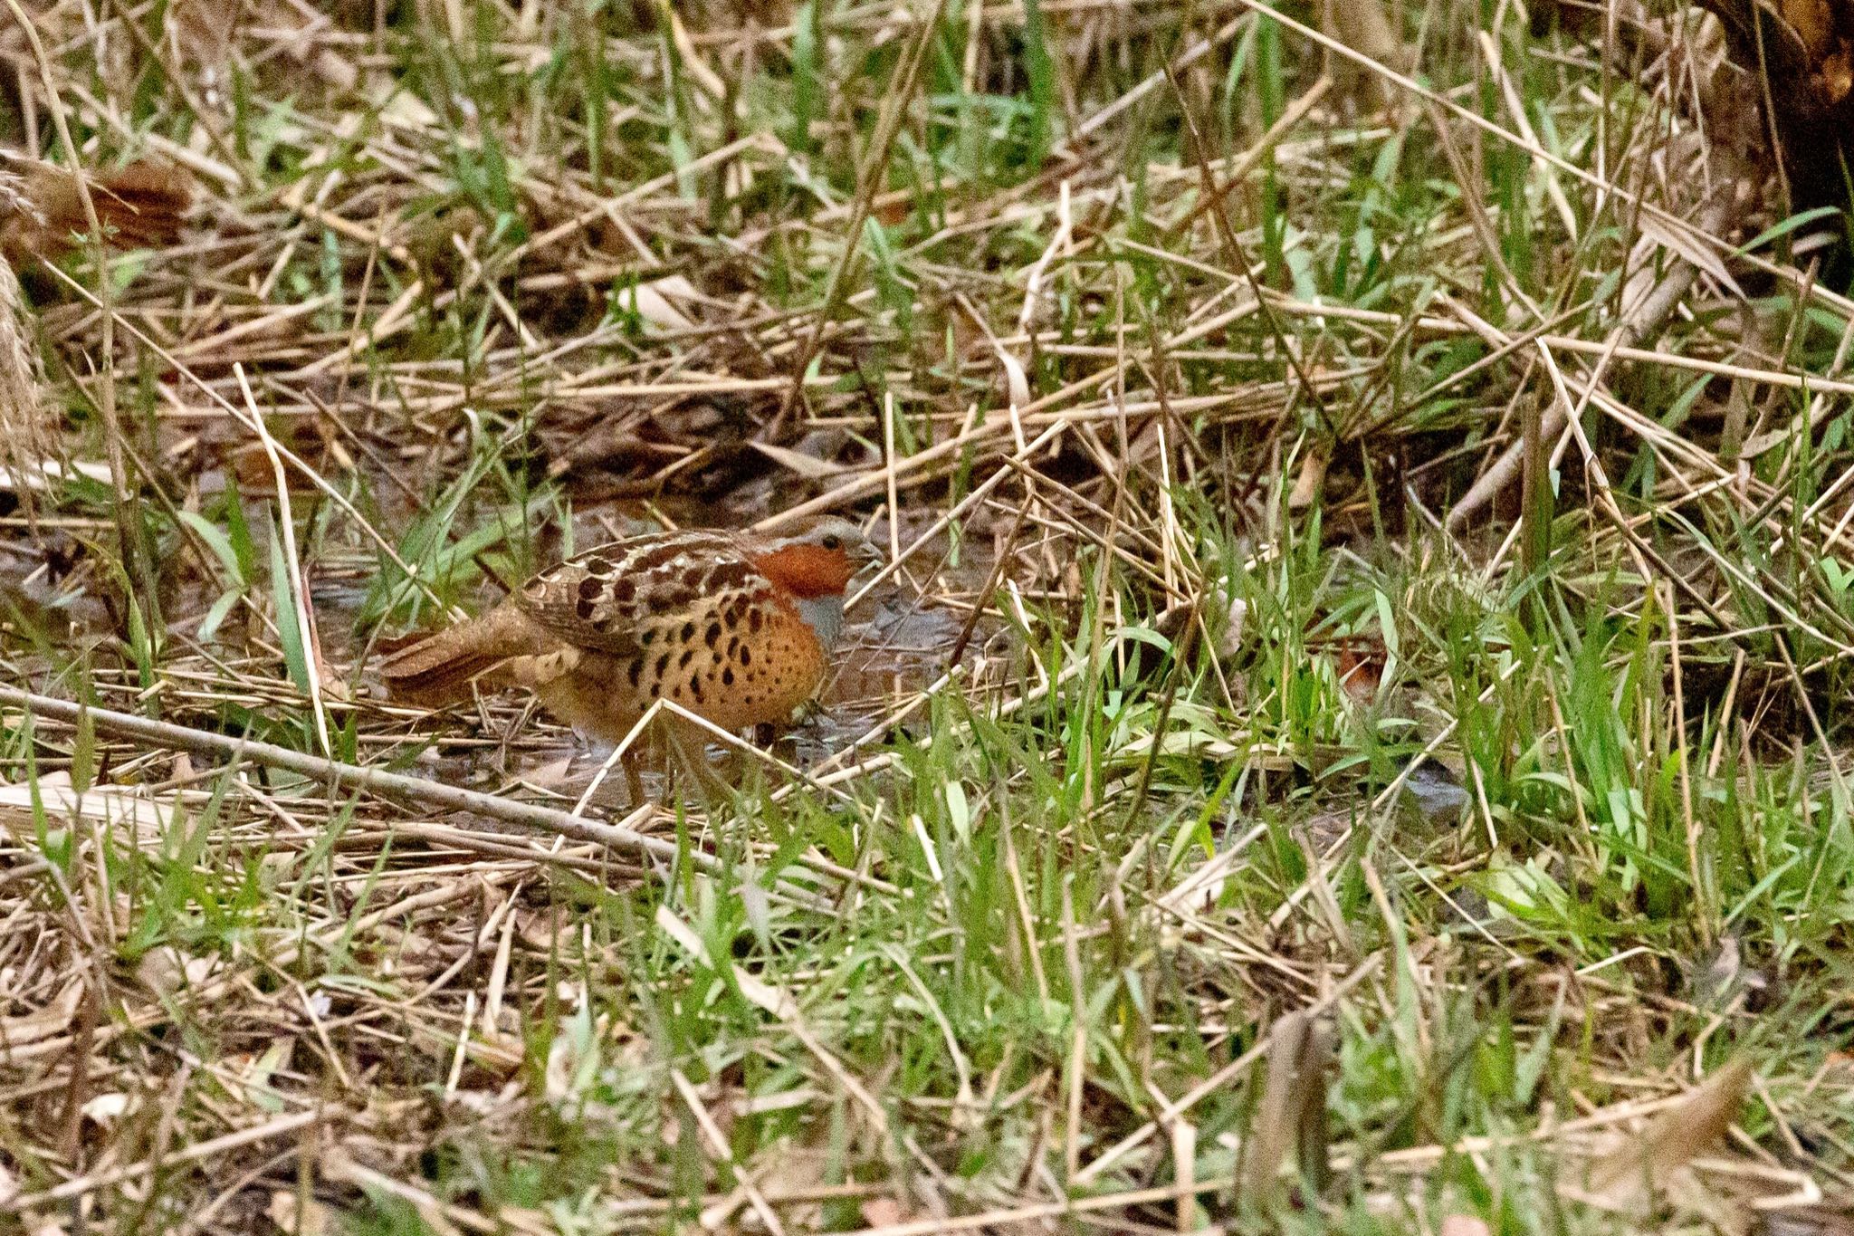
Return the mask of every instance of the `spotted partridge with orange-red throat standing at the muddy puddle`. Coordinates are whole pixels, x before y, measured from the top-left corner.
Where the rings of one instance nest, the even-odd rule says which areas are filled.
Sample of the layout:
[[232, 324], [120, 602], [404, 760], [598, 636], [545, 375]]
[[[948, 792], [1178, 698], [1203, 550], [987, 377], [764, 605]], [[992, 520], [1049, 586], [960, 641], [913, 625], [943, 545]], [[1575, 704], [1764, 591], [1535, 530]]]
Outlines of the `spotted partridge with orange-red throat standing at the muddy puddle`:
[[[844, 593], [883, 552], [825, 515], [782, 534], [649, 532], [575, 554], [493, 610], [391, 652], [387, 693], [441, 708], [473, 687], [530, 689], [582, 734], [621, 743], [656, 700], [738, 732], [779, 723], [825, 680]], [[712, 782], [699, 726], [666, 738]], [[643, 784], [627, 752], [632, 802]]]

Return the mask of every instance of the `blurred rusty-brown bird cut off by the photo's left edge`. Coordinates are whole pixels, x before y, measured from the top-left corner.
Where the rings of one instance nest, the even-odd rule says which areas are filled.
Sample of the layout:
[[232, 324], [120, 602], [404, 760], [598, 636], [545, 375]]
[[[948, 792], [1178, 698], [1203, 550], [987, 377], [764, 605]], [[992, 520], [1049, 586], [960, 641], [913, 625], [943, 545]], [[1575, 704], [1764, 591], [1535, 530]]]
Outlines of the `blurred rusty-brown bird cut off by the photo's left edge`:
[[[115, 248], [165, 248], [180, 239], [193, 193], [172, 167], [143, 159], [113, 174], [85, 174], [91, 206]], [[89, 232], [76, 174], [0, 150], [0, 258], [57, 258]]]

